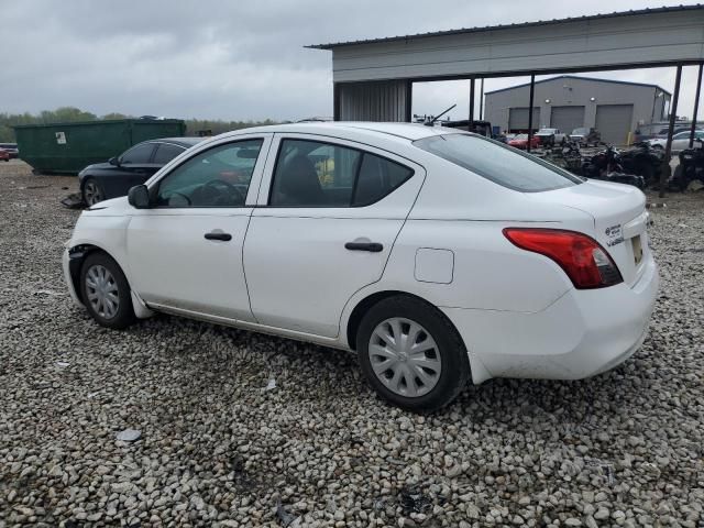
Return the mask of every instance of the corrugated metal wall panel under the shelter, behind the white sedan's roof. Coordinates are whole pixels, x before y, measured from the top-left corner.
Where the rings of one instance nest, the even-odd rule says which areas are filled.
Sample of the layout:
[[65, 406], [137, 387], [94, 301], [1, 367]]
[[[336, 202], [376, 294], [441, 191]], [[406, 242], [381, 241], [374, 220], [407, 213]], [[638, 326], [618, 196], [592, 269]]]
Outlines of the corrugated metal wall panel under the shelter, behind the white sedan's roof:
[[411, 94], [404, 80], [341, 82], [338, 85], [341, 121], [406, 121]]

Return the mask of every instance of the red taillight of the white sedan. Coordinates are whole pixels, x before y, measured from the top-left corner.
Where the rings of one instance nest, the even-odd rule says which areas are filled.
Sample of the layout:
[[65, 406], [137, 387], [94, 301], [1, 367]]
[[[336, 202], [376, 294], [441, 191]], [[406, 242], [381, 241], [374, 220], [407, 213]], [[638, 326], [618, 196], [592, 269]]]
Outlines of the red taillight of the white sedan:
[[504, 235], [521, 250], [553, 260], [579, 289], [622, 283], [609, 254], [591, 237], [562, 229], [506, 228]]

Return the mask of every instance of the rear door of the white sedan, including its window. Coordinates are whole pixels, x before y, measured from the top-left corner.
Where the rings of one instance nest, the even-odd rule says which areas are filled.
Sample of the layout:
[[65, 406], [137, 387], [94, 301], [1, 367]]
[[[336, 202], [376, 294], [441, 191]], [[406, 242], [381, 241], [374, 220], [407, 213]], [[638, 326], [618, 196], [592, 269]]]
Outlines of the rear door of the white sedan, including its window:
[[244, 242], [252, 311], [334, 338], [344, 305], [378, 280], [425, 170], [367, 145], [277, 134]]

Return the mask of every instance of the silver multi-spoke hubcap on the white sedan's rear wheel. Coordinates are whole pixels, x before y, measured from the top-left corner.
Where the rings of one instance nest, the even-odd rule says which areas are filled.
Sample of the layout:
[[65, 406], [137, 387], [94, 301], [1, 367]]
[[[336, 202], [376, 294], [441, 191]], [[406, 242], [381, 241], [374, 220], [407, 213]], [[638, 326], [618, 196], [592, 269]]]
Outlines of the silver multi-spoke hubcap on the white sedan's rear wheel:
[[376, 377], [398, 395], [422, 396], [440, 380], [438, 345], [410, 319], [393, 317], [381, 322], [372, 332], [369, 354]]

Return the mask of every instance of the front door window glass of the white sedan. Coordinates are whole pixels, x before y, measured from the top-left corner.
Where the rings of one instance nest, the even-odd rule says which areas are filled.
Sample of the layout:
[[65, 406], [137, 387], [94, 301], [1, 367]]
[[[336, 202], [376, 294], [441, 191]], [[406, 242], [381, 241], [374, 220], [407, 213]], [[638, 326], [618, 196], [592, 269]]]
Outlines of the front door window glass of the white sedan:
[[157, 207], [243, 207], [263, 140], [215, 146], [158, 184]]

